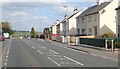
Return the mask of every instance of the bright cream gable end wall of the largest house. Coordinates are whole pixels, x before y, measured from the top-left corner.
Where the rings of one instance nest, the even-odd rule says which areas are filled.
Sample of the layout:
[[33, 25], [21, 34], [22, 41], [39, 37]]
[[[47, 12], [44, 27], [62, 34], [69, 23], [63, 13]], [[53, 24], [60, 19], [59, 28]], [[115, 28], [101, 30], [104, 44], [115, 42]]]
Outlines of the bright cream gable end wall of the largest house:
[[[118, 7], [118, 2], [112, 1], [100, 13], [100, 35], [104, 33], [114, 33], [116, 34], [116, 11], [115, 8]], [[104, 11], [104, 13], [102, 13]]]

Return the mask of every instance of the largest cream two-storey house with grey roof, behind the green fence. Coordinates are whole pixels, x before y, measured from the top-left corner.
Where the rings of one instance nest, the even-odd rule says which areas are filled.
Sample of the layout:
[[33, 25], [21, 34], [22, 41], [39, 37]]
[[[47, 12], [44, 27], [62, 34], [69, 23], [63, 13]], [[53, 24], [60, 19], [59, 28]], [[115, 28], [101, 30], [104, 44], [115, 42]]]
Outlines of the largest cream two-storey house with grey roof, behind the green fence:
[[114, 10], [116, 7], [118, 7], [117, 1], [99, 0], [97, 5], [87, 8], [76, 17], [78, 34], [87, 36], [116, 34], [116, 11]]

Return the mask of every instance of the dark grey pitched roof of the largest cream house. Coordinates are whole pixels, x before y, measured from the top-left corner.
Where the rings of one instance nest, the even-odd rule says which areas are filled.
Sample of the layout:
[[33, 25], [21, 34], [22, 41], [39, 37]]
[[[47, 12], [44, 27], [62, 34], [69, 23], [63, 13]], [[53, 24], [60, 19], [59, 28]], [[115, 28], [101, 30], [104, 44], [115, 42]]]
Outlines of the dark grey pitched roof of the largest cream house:
[[89, 8], [87, 8], [81, 15], [79, 15], [78, 17], [82, 17], [82, 16], [86, 16], [86, 15], [90, 15], [90, 14], [94, 14], [94, 13], [98, 13], [100, 10], [102, 10], [103, 8], [105, 8], [108, 4], [110, 4], [111, 2], [104, 2], [101, 3], [100, 5], [94, 5], [91, 6]]

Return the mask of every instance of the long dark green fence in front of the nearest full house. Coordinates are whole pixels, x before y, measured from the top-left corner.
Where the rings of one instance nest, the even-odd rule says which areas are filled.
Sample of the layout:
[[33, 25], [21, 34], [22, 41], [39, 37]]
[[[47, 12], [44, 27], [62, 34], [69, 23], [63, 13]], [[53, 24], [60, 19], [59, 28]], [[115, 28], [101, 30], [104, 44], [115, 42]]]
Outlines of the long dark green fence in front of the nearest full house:
[[120, 48], [120, 37], [119, 38], [80, 38], [80, 44], [92, 45], [96, 47], [105, 48], [107, 40], [107, 48], [112, 47], [112, 40], [114, 48]]

